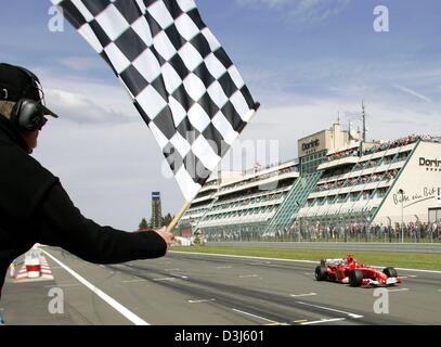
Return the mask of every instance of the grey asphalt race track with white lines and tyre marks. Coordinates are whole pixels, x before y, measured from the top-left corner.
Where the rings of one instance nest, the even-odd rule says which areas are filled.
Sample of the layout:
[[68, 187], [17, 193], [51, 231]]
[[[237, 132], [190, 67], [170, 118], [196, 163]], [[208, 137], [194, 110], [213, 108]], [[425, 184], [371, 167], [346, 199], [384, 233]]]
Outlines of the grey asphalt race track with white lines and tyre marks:
[[[47, 256], [55, 280], [8, 280], [0, 301], [8, 325], [441, 324], [441, 273], [399, 271], [403, 284], [375, 296], [316, 282], [314, 262], [169, 253], [96, 266], [43, 249], [62, 262]], [[49, 312], [52, 287], [62, 290], [62, 314]]]

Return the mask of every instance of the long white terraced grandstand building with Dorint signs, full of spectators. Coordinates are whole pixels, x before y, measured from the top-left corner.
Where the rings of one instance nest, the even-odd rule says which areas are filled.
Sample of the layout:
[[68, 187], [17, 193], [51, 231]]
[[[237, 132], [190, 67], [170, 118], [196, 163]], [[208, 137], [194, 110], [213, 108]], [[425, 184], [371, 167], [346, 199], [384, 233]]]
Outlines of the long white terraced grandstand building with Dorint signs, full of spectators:
[[208, 240], [258, 240], [440, 223], [440, 138], [363, 138], [334, 124], [300, 139], [298, 159], [229, 179], [222, 172], [203, 188], [179, 228], [203, 231]]

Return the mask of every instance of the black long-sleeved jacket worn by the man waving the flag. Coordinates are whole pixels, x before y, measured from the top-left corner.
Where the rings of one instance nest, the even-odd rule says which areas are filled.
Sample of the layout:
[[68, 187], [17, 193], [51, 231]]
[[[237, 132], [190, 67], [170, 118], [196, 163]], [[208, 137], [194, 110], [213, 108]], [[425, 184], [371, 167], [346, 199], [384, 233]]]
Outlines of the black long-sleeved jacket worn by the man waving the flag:
[[0, 115], [0, 291], [10, 264], [35, 243], [95, 264], [166, 254], [156, 232], [128, 233], [85, 218], [60, 180], [27, 153], [20, 132]]

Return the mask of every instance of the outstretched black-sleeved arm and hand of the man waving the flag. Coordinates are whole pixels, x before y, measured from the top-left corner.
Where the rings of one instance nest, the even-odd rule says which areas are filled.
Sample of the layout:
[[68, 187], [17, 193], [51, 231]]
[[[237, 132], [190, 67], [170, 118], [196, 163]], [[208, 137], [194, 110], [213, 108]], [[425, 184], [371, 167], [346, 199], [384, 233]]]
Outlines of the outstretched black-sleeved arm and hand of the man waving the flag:
[[166, 254], [172, 240], [164, 231], [129, 233], [101, 227], [81, 215], [60, 183], [48, 192], [36, 218], [37, 242], [60, 246], [95, 264], [158, 258]]

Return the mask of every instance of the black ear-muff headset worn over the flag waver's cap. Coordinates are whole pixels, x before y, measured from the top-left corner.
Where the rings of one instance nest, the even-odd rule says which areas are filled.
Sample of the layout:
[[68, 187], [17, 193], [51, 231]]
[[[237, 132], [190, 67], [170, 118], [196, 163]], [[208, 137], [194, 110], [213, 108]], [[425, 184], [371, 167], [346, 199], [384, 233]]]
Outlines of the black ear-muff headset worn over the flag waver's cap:
[[[18, 68], [20, 70], [25, 73], [31, 80], [31, 83], [23, 92], [23, 95], [26, 94], [26, 91], [30, 87], [36, 87], [38, 90], [42, 92], [42, 88], [38, 77], [24, 67]], [[35, 101], [31, 99], [21, 99], [12, 108], [11, 121], [21, 131], [34, 131], [37, 129], [41, 130], [41, 128], [48, 121], [48, 119], [44, 117], [44, 110], [41, 104], [43, 100], [44, 97], [42, 97], [40, 101]]]

